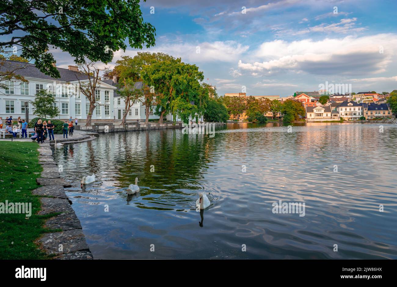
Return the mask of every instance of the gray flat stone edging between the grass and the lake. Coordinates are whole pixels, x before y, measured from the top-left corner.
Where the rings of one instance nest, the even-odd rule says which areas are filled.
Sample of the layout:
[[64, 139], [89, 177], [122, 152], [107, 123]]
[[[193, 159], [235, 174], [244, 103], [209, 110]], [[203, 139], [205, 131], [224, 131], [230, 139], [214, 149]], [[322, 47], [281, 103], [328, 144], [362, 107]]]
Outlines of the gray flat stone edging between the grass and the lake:
[[42, 186], [33, 190], [32, 193], [41, 197], [39, 215], [60, 213], [47, 219], [44, 226], [62, 231], [46, 233], [37, 242], [47, 254], [55, 255], [55, 259], [93, 259], [85, 241], [80, 220], [65, 193], [64, 188], [71, 187], [71, 184], [61, 179], [58, 165], [52, 157], [50, 144], [40, 144], [38, 151], [39, 163], [43, 171], [41, 177], [37, 179], [37, 184]]

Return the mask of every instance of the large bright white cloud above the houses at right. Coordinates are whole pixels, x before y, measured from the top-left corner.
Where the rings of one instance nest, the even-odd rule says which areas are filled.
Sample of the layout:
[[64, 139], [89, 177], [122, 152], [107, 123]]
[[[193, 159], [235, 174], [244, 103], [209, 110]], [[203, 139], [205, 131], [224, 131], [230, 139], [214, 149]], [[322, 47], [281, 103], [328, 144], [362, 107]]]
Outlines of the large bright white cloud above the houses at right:
[[[383, 46], [384, 53], [379, 53]], [[303, 71], [312, 74], [360, 74], [384, 72], [395, 60], [396, 34], [314, 41], [305, 39], [287, 42], [264, 42], [254, 53], [258, 60], [238, 62], [241, 70], [272, 72], [277, 70]]]

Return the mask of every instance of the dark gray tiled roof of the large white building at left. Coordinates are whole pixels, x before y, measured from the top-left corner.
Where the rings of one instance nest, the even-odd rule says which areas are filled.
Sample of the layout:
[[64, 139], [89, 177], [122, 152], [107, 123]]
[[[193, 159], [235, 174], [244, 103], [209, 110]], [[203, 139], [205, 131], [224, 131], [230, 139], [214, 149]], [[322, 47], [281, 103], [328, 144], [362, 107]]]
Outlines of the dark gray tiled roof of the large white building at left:
[[35, 64], [11, 61], [11, 60], [0, 60], [0, 72], [5, 71], [13, 71], [15, 70], [15, 74], [21, 75], [27, 78], [37, 78], [43, 80], [52, 80], [52, 81], [62, 81], [62, 82], [71, 82], [78, 80], [86, 80], [88, 76], [82, 74], [81, 72], [71, 71], [69, 69], [57, 68], [60, 78], [52, 78], [42, 72], [38, 68], [36, 68]]

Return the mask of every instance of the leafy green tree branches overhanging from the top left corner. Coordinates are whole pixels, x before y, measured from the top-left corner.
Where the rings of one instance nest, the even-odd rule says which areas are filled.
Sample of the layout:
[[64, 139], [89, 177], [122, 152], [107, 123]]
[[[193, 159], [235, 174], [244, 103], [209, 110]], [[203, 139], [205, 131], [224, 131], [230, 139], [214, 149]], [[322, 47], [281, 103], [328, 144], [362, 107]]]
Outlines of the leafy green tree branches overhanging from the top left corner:
[[108, 63], [114, 51], [125, 51], [127, 38], [132, 48], [154, 46], [155, 29], [143, 21], [139, 0], [3, 0], [0, 36], [1, 53], [20, 50], [41, 72], [59, 78], [49, 47], [68, 52], [76, 63]]

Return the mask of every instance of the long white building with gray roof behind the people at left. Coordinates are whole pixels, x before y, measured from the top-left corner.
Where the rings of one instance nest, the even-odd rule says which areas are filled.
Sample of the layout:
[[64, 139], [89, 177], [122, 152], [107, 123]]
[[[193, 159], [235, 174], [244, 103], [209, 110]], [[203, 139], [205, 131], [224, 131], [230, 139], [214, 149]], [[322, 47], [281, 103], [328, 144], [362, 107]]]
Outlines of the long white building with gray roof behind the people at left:
[[[29, 102], [29, 119], [36, 117], [33, 114], [32, 102], [40, 90], [47, 90], [55, 97], [56, 105], [59, 108], [60, 120], [67, 120], [70, 117], [87, 119], [89, 111], [88, 99], [79, 91], [79, 81], [88, 82], [87, 75], [81, 73], [76, 66], [69, 66], [68, 69], [57, 68], [60, 78], [52, 78], [35, 67], [34, 64], [18, 61], [3, 61], [0, 71], [15, 70], [15, 73], [23, 76], [28, 82], [22, 83], [19, 80], [4, 81], [9, 89], [0, 89], [0, 116], [5, 119], [12, 116], [17, 119], [19, 116], [25, 118], [25, 102]], [[112, 80], [98, 81], [96, 90], [97, 105], [93, 112], [93, 122], [112, 122], [114, 120], [113, 95], [116, 87]]]

